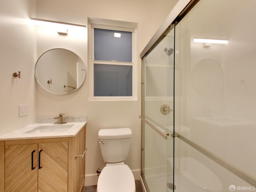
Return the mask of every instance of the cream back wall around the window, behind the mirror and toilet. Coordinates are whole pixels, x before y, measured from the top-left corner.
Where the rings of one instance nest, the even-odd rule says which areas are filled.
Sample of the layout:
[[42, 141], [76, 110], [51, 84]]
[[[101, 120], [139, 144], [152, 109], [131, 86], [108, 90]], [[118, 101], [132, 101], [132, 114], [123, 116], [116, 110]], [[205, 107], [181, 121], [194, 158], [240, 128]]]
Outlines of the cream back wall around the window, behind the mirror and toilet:
[[[148, 43], [163, 20], [171, 11], [177, 1], [98, 1], [81, 0], [44, 0], [37, 1], [37, 18], [70, 22], [88, 26], [88, 17], [104, 18], [138, 23], [138, 93], [140, 93], [140, 51]], [[42, 30], [37, 34], [37, 58], [46, 50], [52, 48], [66, 48], [72, 50], [86, 63], [90, 56], [87, 55], [90, 48], [89, 40], [85, 36], [58, 36], [57, 33], [45, 34]], [[101, 128], [132, 129], [132, 146], [126, 160], [126, 164], [134, 171], [135, 178], [140, 176], [140, 95], [137, 101], [88, 101], [88, 78], [86, 75], [84, 85], [75, 93], [58, 96], [43, 90], [36, 84], [36, 116], [54, 116], [62, 112], [70, 115], [87, 115], [86, 126], [86, 185], [94, 185], [97, 182], [96, 169], [102, 169], [105, 163], [102, 160], [98, 145], [98, 131]]]

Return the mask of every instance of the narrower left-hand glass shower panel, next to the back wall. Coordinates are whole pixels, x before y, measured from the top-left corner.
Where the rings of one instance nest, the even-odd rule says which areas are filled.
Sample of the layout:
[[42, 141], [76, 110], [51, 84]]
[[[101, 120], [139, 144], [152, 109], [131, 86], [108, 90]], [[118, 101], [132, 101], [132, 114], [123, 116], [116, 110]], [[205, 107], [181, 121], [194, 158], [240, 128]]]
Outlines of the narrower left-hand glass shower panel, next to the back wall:
[[173, 81], [171, 30], [142, 62], [142, 177], [148, 192], [169, 192], [173, 183]]

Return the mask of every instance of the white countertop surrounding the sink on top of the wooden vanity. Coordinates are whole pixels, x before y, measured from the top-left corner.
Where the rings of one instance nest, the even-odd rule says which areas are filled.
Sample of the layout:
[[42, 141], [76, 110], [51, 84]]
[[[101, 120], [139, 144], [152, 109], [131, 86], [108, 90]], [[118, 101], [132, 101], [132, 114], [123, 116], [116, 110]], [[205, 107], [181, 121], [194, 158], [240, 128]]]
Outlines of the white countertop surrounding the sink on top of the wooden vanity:
[[[8, 134], [0, 136], [0, 140], [21, 140], [21, 139], [41, 139], [41, 138], [59, 138], [59, 137], [74, 137], [76, 134], [84, 127], [86, 121], [84, 122], [68, 122], [65, 124], [53, 124], [53, 123], [35, 123], [24, 128], [18, 129], [16, 131], [10, 132]], [[49, 126], [49, 125], [73, 125], [66, 131], [63, 132], [46, 132], [46, 133], [25, 133], [30, 130], [35, 129], [38, 126]]]

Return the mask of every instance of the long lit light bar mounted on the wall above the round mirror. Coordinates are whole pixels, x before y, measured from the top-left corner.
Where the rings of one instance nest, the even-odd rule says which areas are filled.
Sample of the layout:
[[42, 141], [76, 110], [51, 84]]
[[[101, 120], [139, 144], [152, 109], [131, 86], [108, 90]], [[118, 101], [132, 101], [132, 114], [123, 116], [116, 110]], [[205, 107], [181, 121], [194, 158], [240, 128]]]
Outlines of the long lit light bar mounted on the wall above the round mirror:
[[78, 28], [86, 28], [85, 25], [37, 19], [37, 18], [31, 18], [31, 23], [38, 26], [56, 28], [58, 34], [61, 34], [61, 35], [67, 35], [69, 29], [71, 30], [71, 29], [78, 29]]

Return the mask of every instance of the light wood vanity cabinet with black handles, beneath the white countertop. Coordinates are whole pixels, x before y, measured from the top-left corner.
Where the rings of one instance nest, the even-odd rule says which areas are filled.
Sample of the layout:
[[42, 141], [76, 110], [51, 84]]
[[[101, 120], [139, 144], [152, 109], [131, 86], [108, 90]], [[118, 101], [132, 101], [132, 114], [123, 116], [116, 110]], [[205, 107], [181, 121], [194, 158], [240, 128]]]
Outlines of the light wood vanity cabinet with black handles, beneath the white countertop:
[[[85, 126], [74, 137], [0, 141], [0, 192], [82, 192]], [[2, 163], [2, 160], [4, 163]]]

